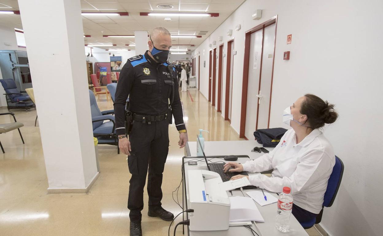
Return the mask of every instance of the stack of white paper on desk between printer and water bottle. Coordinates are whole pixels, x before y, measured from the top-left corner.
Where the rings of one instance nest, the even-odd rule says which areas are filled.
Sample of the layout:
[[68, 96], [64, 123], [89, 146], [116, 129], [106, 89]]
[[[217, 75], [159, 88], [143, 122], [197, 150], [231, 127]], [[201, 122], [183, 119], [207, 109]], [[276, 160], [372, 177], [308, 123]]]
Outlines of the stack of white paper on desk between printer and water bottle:
[[229, 197], [230, 218], [229, 222], [258, 221], [265, 222], [257, 205], [250, 197]]

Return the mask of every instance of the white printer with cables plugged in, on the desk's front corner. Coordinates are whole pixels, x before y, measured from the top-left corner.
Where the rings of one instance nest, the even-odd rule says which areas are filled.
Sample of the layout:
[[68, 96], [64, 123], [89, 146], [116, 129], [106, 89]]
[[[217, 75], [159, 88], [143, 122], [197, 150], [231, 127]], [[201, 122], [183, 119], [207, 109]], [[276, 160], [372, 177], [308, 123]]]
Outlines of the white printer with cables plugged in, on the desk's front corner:
[[229, 229], [230, 201], [221, 187], [218, 173], [207, 170], [188, 171], [188, 206], [191, 231]]

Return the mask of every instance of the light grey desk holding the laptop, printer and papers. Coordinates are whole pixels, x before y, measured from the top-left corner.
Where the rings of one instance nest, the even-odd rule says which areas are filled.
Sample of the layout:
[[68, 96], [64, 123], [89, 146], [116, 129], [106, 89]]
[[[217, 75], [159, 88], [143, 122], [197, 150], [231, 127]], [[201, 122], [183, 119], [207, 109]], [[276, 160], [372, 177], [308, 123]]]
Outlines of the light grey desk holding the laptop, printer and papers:
[[[247, 140], [247, 141], [217, 141], [217, 142], [205, 142], [205, 154], [206, 156], [225, 156], [225, 155], [248, 155], [250, 159], [255, 159], [261, 156], [263, 153], [256, 153], [251, 152], [251, 149], [255, 146], [261, 147], [257, 141], [254, 140]], [[196, 142], [188, 142], [185, 150], [188, 153], [191, 153], [192, 155], [196, 153]], [[272, 148], [267, 148], [268, 150], [272, 150]], [[201, 160], [198, 161], [198, 166], [189, 166], [185, 162], [190, 161], [192, 159]], [[209, 158], [208, 158], [209, 159]], [[239, 163], [244, 163], [246, 160], [249, 160], [248, 158], [238, 158]], [[212, 161], [224, 161], [223, 158], [214, 158]], [[226, 161], [224, 161], [226, 162]], [[183, 166], [183, 210], [187, 209], [187, 205], [190, 205], [190, 203], [187, 202], [187, 171], [190, 169], [205, 169], [206, 163], [204, 158], [196, 157], [196, 156], [185, 156], [182, 158], [182, 166]], [[247, 191], [244, 190], [245, 196]], [[233, 195], [237, 196], [243, 196], [241, 191], [232, 191]], [[275, 194], [275, 196], [277, 196]], [[277, 203], [273, 203], [270, 205], [266, 205], [264, 207], [261, 207], [258, 205], [258, 203], [255, 203], [264, 217], [265, 222], [260, 223], [256, 222], [255, 224], [252, 224], [252, 228], [261, 236], [307, 236], [308, 234], [306, 231], [302, 228], [300, 223], [295, 219], [294, 216], [291, 216], [290, 218], [290, 232], [289, 233], [282, 233], [278, 231], [275, 228], [275, 217], [277, 216]], [[188, 215], [184, 213], [184, 218], [187, 219]], [[252, 236], [249, 229], [246, 229], [244, 226], [231, 226], [228, 230], [223, 231], [189, 231], [189, 228], [187, 227], [187, 235], [188, 236]]]

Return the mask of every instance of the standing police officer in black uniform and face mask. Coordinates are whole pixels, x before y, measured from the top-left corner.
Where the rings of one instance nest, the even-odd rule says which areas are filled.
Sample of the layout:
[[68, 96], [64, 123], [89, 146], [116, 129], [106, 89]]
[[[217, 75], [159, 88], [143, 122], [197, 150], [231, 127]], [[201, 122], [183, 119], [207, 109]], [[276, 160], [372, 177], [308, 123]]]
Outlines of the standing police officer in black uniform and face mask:
[[[162, 172], [169, 151], [169, 103], [180, 133], [178, 145], [186, 144], [186, 128], [178, 93], [177, 73], [174, 65], [167, 62], [172, 39], [163, 27], [153, 30], [148, 41], [149, 50], [144, 55], [130, 58], [124, 65], [115, 95], [115, 120], [118, 146], [128, 155], [129, 181], [128, 208], [130, 210], [130, 235], [140, 236], [141, 210], [144, 207], [143, 192], [148, 174], [147, 193], [151, 217], [165, 221], [173, 220], [173, 214], [161, 207]], [[128, 110], [133, 114], [133, 126], [126, 136], [125, 105], [129, 96]]]

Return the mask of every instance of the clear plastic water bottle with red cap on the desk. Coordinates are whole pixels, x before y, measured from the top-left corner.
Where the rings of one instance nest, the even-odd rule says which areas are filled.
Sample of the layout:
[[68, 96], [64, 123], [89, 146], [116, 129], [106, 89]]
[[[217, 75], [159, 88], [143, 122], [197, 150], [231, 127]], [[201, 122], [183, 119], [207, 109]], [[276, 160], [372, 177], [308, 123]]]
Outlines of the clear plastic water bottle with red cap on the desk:
[[286, 233], [290, 229], [290, 215], [293, 209], [293, 196], [289, 187], [283, 187], [283, 193], [278, 196], [277, 219], [275, 228]]

